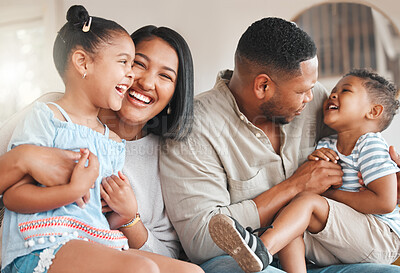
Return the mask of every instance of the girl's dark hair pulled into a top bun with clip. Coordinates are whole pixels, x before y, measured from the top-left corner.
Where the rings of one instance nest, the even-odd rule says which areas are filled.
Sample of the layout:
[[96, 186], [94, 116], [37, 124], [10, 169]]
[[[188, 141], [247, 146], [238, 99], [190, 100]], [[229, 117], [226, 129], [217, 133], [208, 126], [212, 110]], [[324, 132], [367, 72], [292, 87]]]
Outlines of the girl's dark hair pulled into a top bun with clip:
[[[86, 26], [88, 31], [83, 31]], [[95, 54], [104, 43], [111, 43], [117, 33], [129, 33], [114, 21], [99, 17], [90, 17], [83, 6], [71, 6], [67, 12], [67, 23], [58, 31], [53, 47], [53, 59], [61, 78], [70, 54], [74, 49], [82, 49], [88, 54]]]

